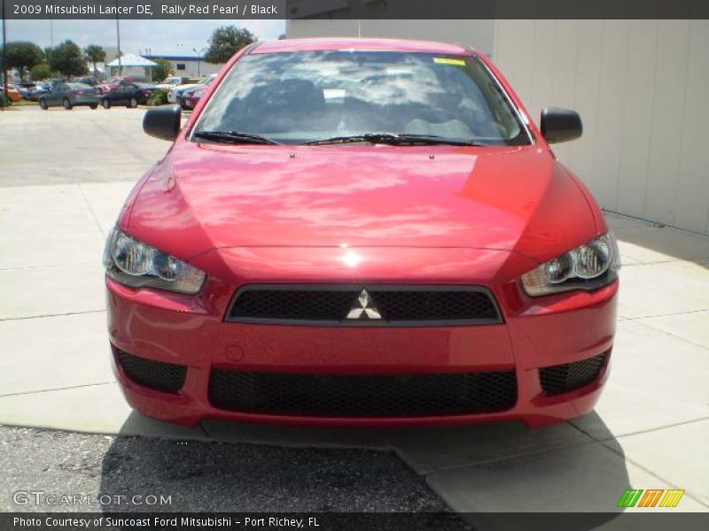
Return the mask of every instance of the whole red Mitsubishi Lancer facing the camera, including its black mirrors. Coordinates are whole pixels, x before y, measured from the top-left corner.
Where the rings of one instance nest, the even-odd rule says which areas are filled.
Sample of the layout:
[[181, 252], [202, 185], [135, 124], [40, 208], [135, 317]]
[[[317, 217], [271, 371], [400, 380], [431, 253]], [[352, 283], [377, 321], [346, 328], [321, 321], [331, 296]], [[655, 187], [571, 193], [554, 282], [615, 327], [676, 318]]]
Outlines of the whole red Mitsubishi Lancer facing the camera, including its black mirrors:
[[113, 366], [157, 419], [402, 426], [589, 412], [619, 253], [487, 58], [367, 39], [239, 52], [106, 244]]

